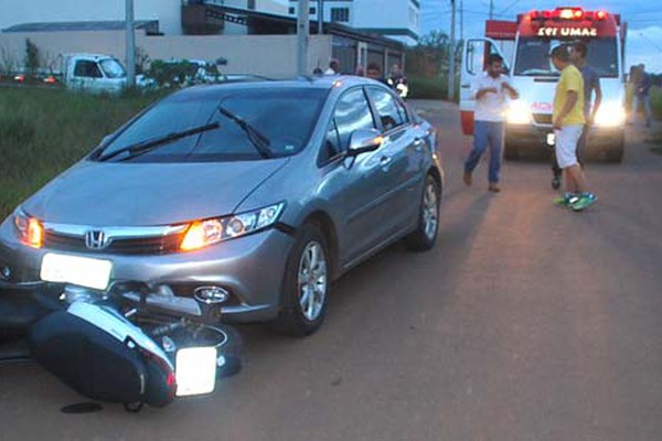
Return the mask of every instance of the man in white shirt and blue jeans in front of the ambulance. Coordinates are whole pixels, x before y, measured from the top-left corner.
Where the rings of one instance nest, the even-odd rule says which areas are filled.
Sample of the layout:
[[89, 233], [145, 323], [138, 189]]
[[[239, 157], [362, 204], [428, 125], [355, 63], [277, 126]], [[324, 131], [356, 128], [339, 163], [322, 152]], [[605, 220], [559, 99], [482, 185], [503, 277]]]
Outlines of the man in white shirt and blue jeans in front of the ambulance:
[[503, 117], [506, 97], [517, 99], [520, 94], [503, 74], [503, 58], [498, 54], [488, 56], [488, 67], [473, 78], [471, 94], [476, 98], [473, 114], [473, 149], [465, 162], [465, 183], [471, 185], [471, 173], [480, 158], [490, 147], [489, 186], [491, 192], [500, 192], [501, 150], [503, 148]]

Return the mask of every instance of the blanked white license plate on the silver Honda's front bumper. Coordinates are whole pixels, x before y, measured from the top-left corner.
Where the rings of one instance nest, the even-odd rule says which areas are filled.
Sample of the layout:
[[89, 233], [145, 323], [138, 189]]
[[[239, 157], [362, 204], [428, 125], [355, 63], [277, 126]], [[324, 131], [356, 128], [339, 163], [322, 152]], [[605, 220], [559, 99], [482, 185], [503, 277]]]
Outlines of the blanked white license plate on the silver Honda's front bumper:
[[111, 271], [113, 262], [109, 260], [49, 252], [42, 259], [40, 277], [46, 282], [105, 290], [108, 288]]

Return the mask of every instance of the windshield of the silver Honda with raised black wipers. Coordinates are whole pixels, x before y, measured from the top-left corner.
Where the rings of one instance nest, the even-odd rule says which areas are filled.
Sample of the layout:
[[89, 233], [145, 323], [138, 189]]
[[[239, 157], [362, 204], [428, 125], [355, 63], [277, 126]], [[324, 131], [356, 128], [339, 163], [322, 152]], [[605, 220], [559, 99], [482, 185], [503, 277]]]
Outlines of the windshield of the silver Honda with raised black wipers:
[[[94, 159], [135, 162], [205, 162], [265, 159], [250, 132], [264, 137], [269, 157], [288, 157], [307, 144], [328, 90], [302, 88], [199, 89], [159, 103], [113, 139]], [[223, 111], [221, 111], [221, 109]], [[232, 116], [232, 118], [231, 118]], [[237, 122], [237, 118], [242, 122]], [[131, 146], [217, 123], [217, 128], [180, 137], [130, 158]], [[246, 129], [249, 127], [249, 130]]]

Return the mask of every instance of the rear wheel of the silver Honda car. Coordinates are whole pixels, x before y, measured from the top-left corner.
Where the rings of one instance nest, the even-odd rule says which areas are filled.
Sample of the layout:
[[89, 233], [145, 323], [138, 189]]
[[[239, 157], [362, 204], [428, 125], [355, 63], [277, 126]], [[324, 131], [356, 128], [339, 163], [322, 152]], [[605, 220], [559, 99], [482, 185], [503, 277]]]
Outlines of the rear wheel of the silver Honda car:
[[439, 184], [431, 174], [428, 174], [418, 208], [418, 227], [405, 238], [405, 245], [412, 251], [427, 251], [435, 247], [439, 230], [440, 201]]

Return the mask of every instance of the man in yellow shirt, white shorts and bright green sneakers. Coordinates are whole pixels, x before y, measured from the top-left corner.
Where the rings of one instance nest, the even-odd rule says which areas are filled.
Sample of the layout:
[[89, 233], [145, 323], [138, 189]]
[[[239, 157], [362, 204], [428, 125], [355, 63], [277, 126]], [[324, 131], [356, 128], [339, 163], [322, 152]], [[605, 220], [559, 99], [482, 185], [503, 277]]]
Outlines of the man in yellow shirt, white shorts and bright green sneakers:
[[554, 95], [554, 146], [558, 166], [564, 170], [565, 194], [555, 200], [579, 212], [598, 200], [588, 192], [584, 171], [577, 162], [577, 142], [584, 130], [584, 78], [570, 62], [570, 46], [560, 45], [552, 51], [552, 63], [560, 71]]

